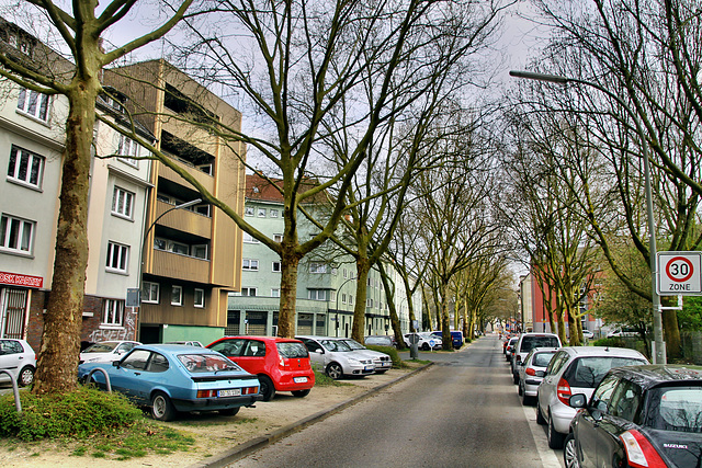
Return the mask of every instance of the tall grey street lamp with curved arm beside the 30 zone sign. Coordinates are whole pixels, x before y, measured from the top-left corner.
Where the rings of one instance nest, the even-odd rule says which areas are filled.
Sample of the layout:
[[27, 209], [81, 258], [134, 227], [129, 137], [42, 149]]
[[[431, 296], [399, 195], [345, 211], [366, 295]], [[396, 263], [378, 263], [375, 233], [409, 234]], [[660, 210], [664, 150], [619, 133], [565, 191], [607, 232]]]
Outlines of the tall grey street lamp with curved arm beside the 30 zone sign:
[[545, 73], [535, 73], [532, 71], [510, 71], [510, 76], [516, 78], [526, 78], [530, 80], [536, 81], [546, 81], [550, 83], [556, 84], [567, 84], [567, 83], [577, 83], [584, 84], [586, 87], [595, 88], [612, 98], [614, 101], [619, 103], [619, 105], [626, 111], [626, 113], [632, 117], [634, 123], [636, 124], [636, 133], [638, 134], [638, 138], [641, 139], [642, 152], [644, 158], [644, 178], [645, 178], [645, 191], [646, 191], [646, 212], [648, 216], [648, 255], [649, 255], [649, 266], [650, 266], [650, 297], [654, 307], [654, 343], [655, 343], [655, 353], [654, 353], [654, 364], [666, 364], [666, 350], [665, 343], [663, 341], [663, 317], [660, 310], [660, 297], [658, 296], [658, 292], [656, 290], [656, 231], [654, 224], [654, 203], [653, 195], [650, 190], [650, 161], [648, 160], [648, 144], [646, 141], [646, 135], [644, 134], [644, 129], [641, 126], [641, 122], [638, 117], [631, 110], [631, 107], [616, 94], [612, 93], [607, 88], [603, 88], [597, 83], [580, 80], [577, 78], [567, 78], [561, 77], [557, 75], [545, 75]]

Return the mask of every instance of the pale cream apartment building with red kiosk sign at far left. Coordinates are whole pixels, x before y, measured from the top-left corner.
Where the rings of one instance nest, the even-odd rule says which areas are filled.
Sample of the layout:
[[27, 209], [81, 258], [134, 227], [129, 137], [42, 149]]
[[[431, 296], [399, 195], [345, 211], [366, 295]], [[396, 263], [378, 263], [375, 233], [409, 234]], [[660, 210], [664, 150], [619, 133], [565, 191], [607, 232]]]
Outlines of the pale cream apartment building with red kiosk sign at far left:
[[[72, 72], [70, 62], [2, 20], [0, 47], [57, 79]], [[0, 338], [26, 339], [38, 350], [52, 289], [68, 103], [9, 80], [0, 82], [0, 167], [7, 170], [0, 181]], [[97, 110], [115, 125], [126, 125], [122, 105], [102, 96]], [[137, 132], [152, 139], [146, 128]], [[125, 310], [125, 298], [139, 285], [150, 162], [133, 159], [145, 155], [143, 148], [103, 123], [97, 123], [94, 138], [81, 339], [134, 339], [136, 317]]]

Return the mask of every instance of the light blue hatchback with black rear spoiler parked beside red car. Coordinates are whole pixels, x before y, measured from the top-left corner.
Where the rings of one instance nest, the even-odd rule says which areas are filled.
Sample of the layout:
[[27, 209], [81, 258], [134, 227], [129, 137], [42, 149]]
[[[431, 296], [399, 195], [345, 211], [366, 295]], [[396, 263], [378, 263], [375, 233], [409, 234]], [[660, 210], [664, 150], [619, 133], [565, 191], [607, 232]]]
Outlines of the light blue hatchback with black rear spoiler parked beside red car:
[[143, 344], [112, 363], [78, 366], [78, 379], [151, 407], [154, 419], [170, 421], [177, 411], [218, 411], [234, 415], [261, 399], [258, 377], [216, 351], [180, 344]]

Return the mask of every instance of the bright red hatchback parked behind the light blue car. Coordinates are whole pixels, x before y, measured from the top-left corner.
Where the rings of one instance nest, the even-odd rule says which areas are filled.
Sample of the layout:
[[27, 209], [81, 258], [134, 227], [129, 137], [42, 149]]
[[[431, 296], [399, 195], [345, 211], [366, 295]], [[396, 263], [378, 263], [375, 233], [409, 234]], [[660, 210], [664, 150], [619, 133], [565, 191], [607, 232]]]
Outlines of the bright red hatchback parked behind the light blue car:
[[224, 354], [244, 370], [257, 375], [263, 401], [270, 401], [276, 391], [292, 391], [294, 397], [303, 398], [315, 386], [309, 353], [299, 340], [225, 336], [206, 347]]

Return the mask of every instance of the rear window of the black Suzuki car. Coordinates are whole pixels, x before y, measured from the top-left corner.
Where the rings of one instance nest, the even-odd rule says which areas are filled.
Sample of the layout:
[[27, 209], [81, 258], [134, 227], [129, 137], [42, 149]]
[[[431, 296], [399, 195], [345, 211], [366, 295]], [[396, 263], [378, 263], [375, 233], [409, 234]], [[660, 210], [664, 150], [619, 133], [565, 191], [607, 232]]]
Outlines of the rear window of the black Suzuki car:
[[664, 431], [702, 432], [702, 387], [659, 387], [650, 391], [649, 425]]

